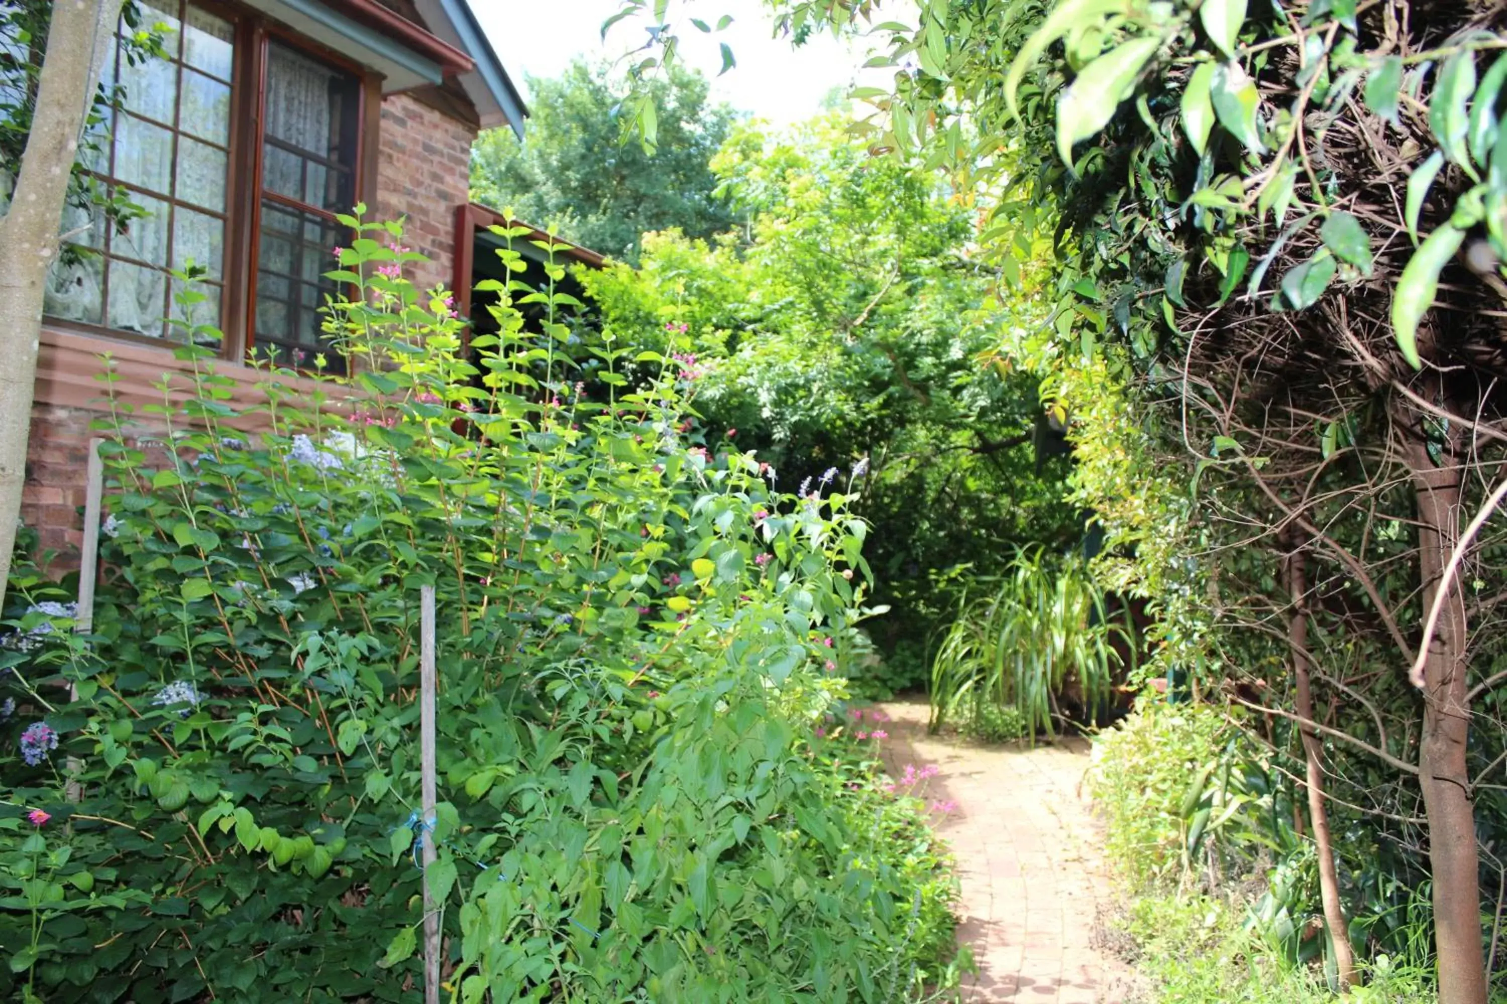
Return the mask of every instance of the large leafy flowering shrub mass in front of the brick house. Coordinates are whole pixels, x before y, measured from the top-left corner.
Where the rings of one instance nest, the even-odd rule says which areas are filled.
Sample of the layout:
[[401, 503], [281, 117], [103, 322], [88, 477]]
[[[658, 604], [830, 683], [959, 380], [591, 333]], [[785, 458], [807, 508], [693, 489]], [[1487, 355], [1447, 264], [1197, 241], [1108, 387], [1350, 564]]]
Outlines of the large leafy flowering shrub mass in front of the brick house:
[[451, 999], [945, 983], [952, 885], [922, 807], [812, 745], [870, 587], [847, 500], [689, 447], [674, 360], [640, 358], [659, 375], [628, 391], [612, 342], [579, 363], [553, 315], [526, 333], [515, 251], [500, 333], [467, 346], [449, 298], [402, 278], [396, 226], [342, 223], [330, 274], [354, 292], [326, 331], [353, 376], [310, 390], [267, 361], [241, 406], [196, 348], [217, 333], [185, 331], [187, 403], [166, 381], [161, 406], [112, 397], [92, 629], [60, 587], [15, 586], [0, 992], [411, 999], [423, 832]]

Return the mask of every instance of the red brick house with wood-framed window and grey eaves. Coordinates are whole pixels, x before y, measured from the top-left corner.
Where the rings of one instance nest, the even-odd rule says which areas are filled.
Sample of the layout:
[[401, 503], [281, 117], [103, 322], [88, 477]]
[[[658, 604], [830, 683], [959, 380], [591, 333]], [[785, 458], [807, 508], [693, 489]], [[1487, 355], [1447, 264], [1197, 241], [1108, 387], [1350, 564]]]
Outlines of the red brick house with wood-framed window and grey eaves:
[[127, 102], [89, 167], [149, 215], [124, 233], [66, 220], [95, 253], [60, 263], [47, 292], [23, 519], [65, 555], [81, 539], [99, 355], [137, 402], [160, 402], [154, 384], [178, 366], [170, 268], [208, 268], [220, 372], [250, 387], [249, 354], [319, 349], [321, 272], [345, 239], [335, 214], [357, 202], [407, 217], [405, 242], [431, 259], [416, 281], [469, 289], [472, 140], [499, 125], [521, 135], [527, 114], [467, 0], [140, 5], [170, 26], [170, 59], [110, 60]]

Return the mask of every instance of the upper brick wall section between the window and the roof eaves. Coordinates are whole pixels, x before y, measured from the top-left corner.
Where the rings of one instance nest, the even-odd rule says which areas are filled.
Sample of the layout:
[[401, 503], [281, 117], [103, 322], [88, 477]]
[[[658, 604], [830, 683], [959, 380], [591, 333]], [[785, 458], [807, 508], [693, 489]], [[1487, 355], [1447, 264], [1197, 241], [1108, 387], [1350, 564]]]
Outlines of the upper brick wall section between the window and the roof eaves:
[[455, 206], [469, 202], [476, 128], [408, 95], [381, 104], [377, 215], [408, 217], [404, 242], [429, 256], [410, 278], [420, 289], [454, 284]]

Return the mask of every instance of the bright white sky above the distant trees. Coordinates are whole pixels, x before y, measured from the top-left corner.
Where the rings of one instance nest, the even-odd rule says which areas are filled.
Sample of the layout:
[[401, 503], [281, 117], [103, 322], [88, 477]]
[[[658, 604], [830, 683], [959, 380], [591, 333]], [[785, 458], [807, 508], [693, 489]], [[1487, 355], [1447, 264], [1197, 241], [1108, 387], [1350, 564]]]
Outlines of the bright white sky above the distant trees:
[[[576, 56], [615, 60], [648, 39], [647, 21], [625, 18], [603, 42], [601, 23], [618, 12], [619, 0], [470, 0], [470, 6], [526, 96], [524, 78], [529, 75], [558, 77]], [[672, 30], [681, 39], [681, 60], [713, 78], [713, 98], [776, 125], [817, 114], [833, 87], [886, 86], [883, 71], [862, 69], [867, 45], [821, 35], [793, 50], [787, 39], [772, 38], [773, 29], [760, 0], [677, 3], [672, 8], [680, 14]], [[714, 35], [702, 35], [684, 20], [695, 15], [714, 26], [722, 14], [731, 14], [732, 24]], [[737, 66], [722, 77], [717, 77], [722, 69], [719, 42], [726, 42], [737, 59]]]

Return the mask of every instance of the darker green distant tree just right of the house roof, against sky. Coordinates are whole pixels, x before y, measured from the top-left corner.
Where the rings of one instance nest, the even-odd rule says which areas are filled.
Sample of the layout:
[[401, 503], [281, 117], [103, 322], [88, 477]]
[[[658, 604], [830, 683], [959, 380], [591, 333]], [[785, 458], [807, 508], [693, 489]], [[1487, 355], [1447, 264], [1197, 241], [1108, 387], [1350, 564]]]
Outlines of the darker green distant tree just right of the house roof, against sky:
[[672, 71], [654, 83], [659, 151], [621, 143], [628, 84], [606, 66], [571, 63], [558, 80], [530, 80], [527, 138], [482, 132], [472, 152], [472, 197], [512, 206], [562, 236], [636, 262], [642, 235], [678, 227], [705, 238], [732, 226], [710, 167], [737, 114], [708, 101], [707, 78]]

